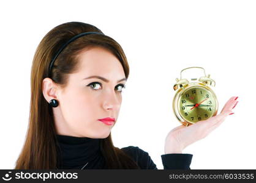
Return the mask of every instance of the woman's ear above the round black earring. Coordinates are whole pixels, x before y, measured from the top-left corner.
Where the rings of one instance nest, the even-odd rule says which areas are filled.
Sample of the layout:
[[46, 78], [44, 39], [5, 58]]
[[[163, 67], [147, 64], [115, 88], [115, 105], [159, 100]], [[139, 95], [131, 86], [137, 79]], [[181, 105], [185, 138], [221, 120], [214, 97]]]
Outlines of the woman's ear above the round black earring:
[[46, 77], [42, 82], [42, 92], [46, 101], [49, 103], [51, 99], [58, 99], [58, 87], [52, 79]]

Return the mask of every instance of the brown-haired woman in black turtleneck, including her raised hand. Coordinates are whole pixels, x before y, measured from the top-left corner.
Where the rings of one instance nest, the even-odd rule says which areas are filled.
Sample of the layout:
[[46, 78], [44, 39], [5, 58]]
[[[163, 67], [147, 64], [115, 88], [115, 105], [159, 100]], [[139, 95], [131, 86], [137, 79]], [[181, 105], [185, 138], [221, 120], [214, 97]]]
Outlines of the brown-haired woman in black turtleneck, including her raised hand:
[[[29, 128], [15, 169], [157, 169], [148, 152], [111, 140], [128, 76], [121, 46], [97, 27], [70, 22], [50, 30], [34, 55]], [[207, 123], [170, 131], [164, 168], [190, 169], [192, 154], [183, 149], [219, 126], [235, 98]]]

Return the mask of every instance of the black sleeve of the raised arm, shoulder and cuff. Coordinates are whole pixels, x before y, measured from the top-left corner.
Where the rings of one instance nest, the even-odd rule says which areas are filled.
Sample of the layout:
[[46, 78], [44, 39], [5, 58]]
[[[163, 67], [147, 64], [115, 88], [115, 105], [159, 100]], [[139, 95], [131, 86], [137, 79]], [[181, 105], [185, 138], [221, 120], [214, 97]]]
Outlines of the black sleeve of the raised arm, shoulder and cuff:
[[[137, 146], [127, 146], [121, 149], [132, 157], [141, 169], [157, 169], [148, 152]], [[190, 169], [192, 154], [163, 154], [161, 158], [164, 169]]]

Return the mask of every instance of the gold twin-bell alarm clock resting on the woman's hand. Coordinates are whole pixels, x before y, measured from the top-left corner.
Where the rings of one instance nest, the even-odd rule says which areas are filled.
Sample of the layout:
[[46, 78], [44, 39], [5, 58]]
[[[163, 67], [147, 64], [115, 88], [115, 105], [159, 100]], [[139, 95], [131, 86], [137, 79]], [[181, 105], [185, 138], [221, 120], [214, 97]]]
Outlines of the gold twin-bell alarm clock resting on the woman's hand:
[[[192, 66], [184, 70], [190, 68], [201, 67]], [[201, 69], [205, 73], [205, 69]], [[173, 89], [177, 90], [173, 98], [173, 112], [184, 126], [195, 124], [197, 121], [207, 120], [217, 114], [217, 97], [210, 88], [215, 87], [216, 82], [209, 78], [209, 76], [208, 74], [206, 77], [205, 74], [205, 76], [199, 79], [192, 78], [190, 82], [187, 79], [182, 79], [182, 76], [181, 79], [176, 78], [176, 84], [173, 86]]]

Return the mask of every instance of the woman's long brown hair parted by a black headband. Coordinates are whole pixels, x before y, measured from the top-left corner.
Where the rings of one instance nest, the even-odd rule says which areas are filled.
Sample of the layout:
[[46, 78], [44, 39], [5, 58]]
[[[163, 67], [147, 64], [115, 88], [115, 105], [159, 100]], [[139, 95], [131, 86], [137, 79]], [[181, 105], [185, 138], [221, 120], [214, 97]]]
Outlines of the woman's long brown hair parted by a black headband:
[[[58, 142], [53, 110], [43, 97], [42, 81], [48, 76], [50, 61], [58, 49], [73, 36], [89, 31], [102, 33], [100, 29], [91, 24], [64, 23], [51, 29], [37, 46], [31, 68], [29, 127], [15, 169], [58, 168]], [[116, 57], [121, 56], [119, 61], [128, 78], [129, 65], [121, 46], [107, 35], [91, 34], [73, 41], [59, 54], [51, 70], [51, 79], [61, 87], [65, 87], [67, 74], [78, 69], [78, 54], [90, 46], [102, 46]], [[107, 138], [100, 139], [100, 151], [105, 158], [104, 168], [106, 169], [140, 169], [129, 155], [113, 145], [111, 133]]]

